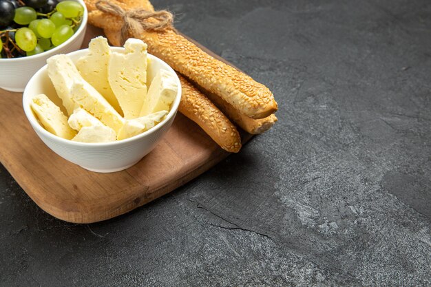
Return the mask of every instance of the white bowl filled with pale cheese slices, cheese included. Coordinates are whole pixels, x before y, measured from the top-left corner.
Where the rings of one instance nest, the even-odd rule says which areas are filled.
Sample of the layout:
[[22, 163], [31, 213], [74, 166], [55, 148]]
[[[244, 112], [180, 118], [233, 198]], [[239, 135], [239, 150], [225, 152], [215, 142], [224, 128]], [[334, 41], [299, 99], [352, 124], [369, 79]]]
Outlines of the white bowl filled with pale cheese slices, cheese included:
[[59, 156], [96, 172], [127, 169], [156, 147], [181, 99], [176, 72], [129, 39], [52, 56], [28, 82], [23, 109]]

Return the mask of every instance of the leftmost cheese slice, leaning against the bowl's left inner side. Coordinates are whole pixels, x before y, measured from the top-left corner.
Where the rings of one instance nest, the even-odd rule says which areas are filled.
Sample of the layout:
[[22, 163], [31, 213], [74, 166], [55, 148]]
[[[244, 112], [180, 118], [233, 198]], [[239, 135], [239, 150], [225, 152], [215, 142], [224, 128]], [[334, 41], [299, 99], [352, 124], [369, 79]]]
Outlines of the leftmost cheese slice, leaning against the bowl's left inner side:
[[30, 107], [39, 119], [39, 122], [51, 134], [67, 140], [76, 135], [76, 131], [67, 125], [67, 117], [63, 114], [63, 111], [44, 94], [34, 96]]

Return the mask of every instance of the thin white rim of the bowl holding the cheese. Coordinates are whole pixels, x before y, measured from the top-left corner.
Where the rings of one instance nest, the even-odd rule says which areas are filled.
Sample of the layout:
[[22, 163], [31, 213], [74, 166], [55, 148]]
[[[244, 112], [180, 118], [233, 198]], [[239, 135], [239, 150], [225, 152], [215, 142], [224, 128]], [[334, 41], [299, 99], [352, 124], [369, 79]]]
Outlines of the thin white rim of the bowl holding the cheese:
[[[123, 52], [125, 50], [124, 47], [111, 47], [110, 46], [110, 48], [111, 48], [111, 50], [114, 50], [115, 52]], [[70, 55], [74, 55], [74, 54], [82, 54], [82, 56], [84, 56], [85, 52], [88, 52], [88, 50], [89, 50], [88, 48], [76, 50], [74, 52], [67, 53], [66, 55], [70, 56]], [[45, 70], [48, 69], [48, 65], [43, 65], [43, 67], [41, 67], [32, 76], [32, 78], [30, 78], [30, 81], [28, 81], [28, 84], [25, 86], [25, 89], [23, 92], [23, 109], [24, 109], [25, 116], [27, 117], [28, 121], [32, 125], [33, 129], [36, 131], [36, 134], [41, 133], [41, 134], [43, 134], [43, 136], [49, 138], [50, 140], [53, 140], [53, 141], [56, 141], [59, 143], [63, 143], [65, 145], [72, 145], [75, 147], [117, 147], [119, 145], [124, 145], [124, 144], [130, 143], [130, 142], [138, 142], [141, 138], [145, 138], [149, 134], [153, 134], [154, 132], [161, 129], [166, 123], [169, 122], [169, 120], [171, 120], [171, 118], [174, 118], [174, 116], [176, 116], [176, 113], [178, 111], [178, 107], [180, 105], [181, 96], [182, 96], [180, 78], [178, 78], [178, 75], [176, 74], [174, 69], [172, 69], [172, 67], [169, 66], [165, 61], [163, 61], [162, 59], [160, 59], [160, 58], [158, 58], [152, 54], [147, 53], [147, 56], [149, 57], [149, 59], [151, 59], [151, 61], [156, 60], [156, 61], [159, 61], [160, 63], [162, 63], [162, 66], [164, 66], [164, 68], [166, 70], [168, 70], [169, 73], [174, 75], [178, 89], [177, 89], [177, 94], [175, 96], [174, 102], [171, 105], [171, 109], [169, 110], [168, 114], [165, 116], [165, 119], [163, 119], [160, 123], [158, 123], [154, 127], [151, 127], [151, 129], [144, 131], [141, 134], [138, 134], [136, 136], [132, 136], [130, 138], [125, 138], [123, 140], [115, 140], [113, 142], [75, 142], [75, 141], [67, 140], [65, 138], [61, 138], [60, 136], [56, 136], [54, 134], [51, 134], [49, 131], [47, 131], [45, 128], [42, 127], [42, 125], [39, 123], [39, 120], [37, 120], [36, 116], [34, 116], [34, 113], [30, 107], [30, 99], [32, 96], [35, 96], [35, 94], [30, 91], [32, 83], [34, 81], [36, 81], [36, 78], [39, 78], [40, 74], [42, 74], [43, 72], [45, 72]], [[150, 61], [150, 63], [151, 63], [151, 61]]]

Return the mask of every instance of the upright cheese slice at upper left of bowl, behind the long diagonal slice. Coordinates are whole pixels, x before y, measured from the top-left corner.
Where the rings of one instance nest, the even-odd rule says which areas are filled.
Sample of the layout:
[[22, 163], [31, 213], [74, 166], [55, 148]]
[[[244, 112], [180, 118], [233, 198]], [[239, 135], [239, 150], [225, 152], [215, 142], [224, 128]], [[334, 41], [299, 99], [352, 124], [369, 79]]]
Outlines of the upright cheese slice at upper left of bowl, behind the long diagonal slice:
[[59, 98], [66, 108], [67, 114], [71, 115], [76, 107], [72, 96], [70, 95], [70, 87], [74, 79], [81, 78], [78, 70], [72, 60], [64, 54], [52, 56], [46, 61], [48, 63], [48, 76], [57, 92]]

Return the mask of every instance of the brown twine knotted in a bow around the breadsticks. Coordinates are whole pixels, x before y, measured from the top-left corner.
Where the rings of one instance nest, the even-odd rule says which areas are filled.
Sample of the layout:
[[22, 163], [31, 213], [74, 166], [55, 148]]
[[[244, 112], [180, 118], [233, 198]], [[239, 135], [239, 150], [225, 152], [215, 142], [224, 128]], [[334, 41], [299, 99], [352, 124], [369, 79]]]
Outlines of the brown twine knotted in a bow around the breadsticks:
[[[130, 37], [138, 38], [145, 30], [162, 31], [174, 30], [174, 15], [167, 10], [148, 11], [143, 8], [124, 10], [110, 1], [96, 2], [96, 8], [108, 14], [114, 14], [123, 19], [121, 27], [121, 45]], [[148, 21], [155, 19], [156, 21]]]

